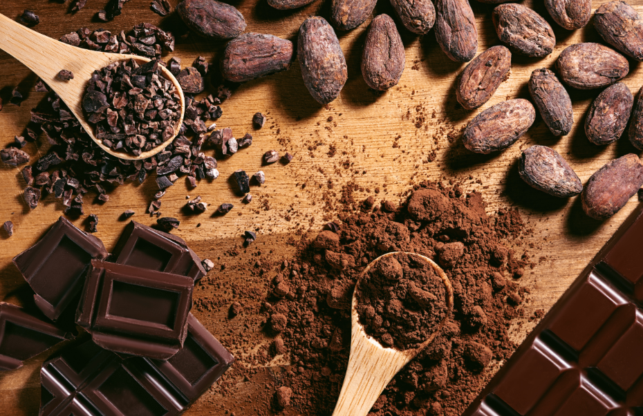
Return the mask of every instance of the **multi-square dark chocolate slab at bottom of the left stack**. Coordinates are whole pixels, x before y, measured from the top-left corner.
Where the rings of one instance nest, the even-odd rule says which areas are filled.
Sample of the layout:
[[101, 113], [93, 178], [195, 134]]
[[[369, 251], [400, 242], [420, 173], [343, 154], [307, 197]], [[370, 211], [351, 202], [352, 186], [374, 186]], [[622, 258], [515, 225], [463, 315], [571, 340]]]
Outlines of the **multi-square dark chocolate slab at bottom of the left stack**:
[[185, 345], [168, 361], [122, 359], [92, 341], [62, 352], [40, 371], [40, 416], [178, 415], [234, 362], [192, 314]]

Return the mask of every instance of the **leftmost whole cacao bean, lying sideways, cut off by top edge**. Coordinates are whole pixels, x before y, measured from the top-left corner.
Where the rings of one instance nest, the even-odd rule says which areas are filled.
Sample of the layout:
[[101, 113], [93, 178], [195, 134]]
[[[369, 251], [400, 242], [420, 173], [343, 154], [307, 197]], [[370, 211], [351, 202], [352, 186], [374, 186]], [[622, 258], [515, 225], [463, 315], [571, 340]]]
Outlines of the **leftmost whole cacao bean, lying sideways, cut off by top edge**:
[[176, 11], [188, 28], [211, 39], [232, 39], [246, 26], [239, 10], [216, 0], [183, 0]]

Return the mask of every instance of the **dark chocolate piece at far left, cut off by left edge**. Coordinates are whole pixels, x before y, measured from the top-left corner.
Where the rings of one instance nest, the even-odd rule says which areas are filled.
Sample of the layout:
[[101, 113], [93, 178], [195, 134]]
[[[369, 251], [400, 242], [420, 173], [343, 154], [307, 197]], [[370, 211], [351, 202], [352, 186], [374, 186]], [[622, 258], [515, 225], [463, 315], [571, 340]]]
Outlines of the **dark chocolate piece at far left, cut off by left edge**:
[[0, 371], [20, 368], [22, 361], [69, 338], [70, 334], [53, 323], [11, 303], [0, 302]]

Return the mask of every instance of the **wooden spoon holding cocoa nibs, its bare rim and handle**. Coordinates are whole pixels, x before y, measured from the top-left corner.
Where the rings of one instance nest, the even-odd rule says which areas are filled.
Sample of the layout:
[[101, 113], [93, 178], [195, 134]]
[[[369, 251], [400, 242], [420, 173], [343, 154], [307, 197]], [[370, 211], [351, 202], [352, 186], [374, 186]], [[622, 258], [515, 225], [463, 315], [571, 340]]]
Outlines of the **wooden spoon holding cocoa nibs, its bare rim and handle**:
[[[124, 55], [120, 53], [105, 53], [86, 50], [64, 44], [50, 37], [46, 37], [34, 30], [22, 26], [20, 23], [12, 21], [5, 15], [0, 14], [0, 49], [18, 59], [25, 64], [30, 70], [35, 72], [48, 86], [55, 91], [61, 100], [67, 104], [71, 112], [76, 116], [82, 128], [92, 138], [101, 149], [117, 158], [128, 160], [146, 159], [165, 149], [170, 144], [183, 123], [185, 114], [185, 97], [178, 81], [167, 68], [161, 68], [165, 78], [169, 79], [181, 100], [181, 117], [174, 126], [174, 135], [171, 138], [159, 144], [155, 148], [142, 152], [140, 155], [131, 155], [130, 153], [113, 151], [108, 146], [102, 144], [95, 138], [93, 126], [85, 121], [82, 111], [82, 96], [91, 74], [94, 70], [104, 68], [114, 62], [134, 59], [137, 62], [149, 62], [151, 59], [136, 55]], [[71, 70], [74, 79], [62, 81], [56, 77], [60, 70]]]

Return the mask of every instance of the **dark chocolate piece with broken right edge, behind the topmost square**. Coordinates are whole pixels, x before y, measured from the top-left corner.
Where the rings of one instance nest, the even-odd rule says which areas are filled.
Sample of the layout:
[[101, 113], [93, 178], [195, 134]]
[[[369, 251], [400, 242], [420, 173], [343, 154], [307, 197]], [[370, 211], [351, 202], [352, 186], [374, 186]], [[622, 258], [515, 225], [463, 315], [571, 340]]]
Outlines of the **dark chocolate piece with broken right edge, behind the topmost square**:
[[198, 281], [206, 272], [201, 258], [182, 238], [131, 221], [113, 252], [115, 263], [189, 276]]

